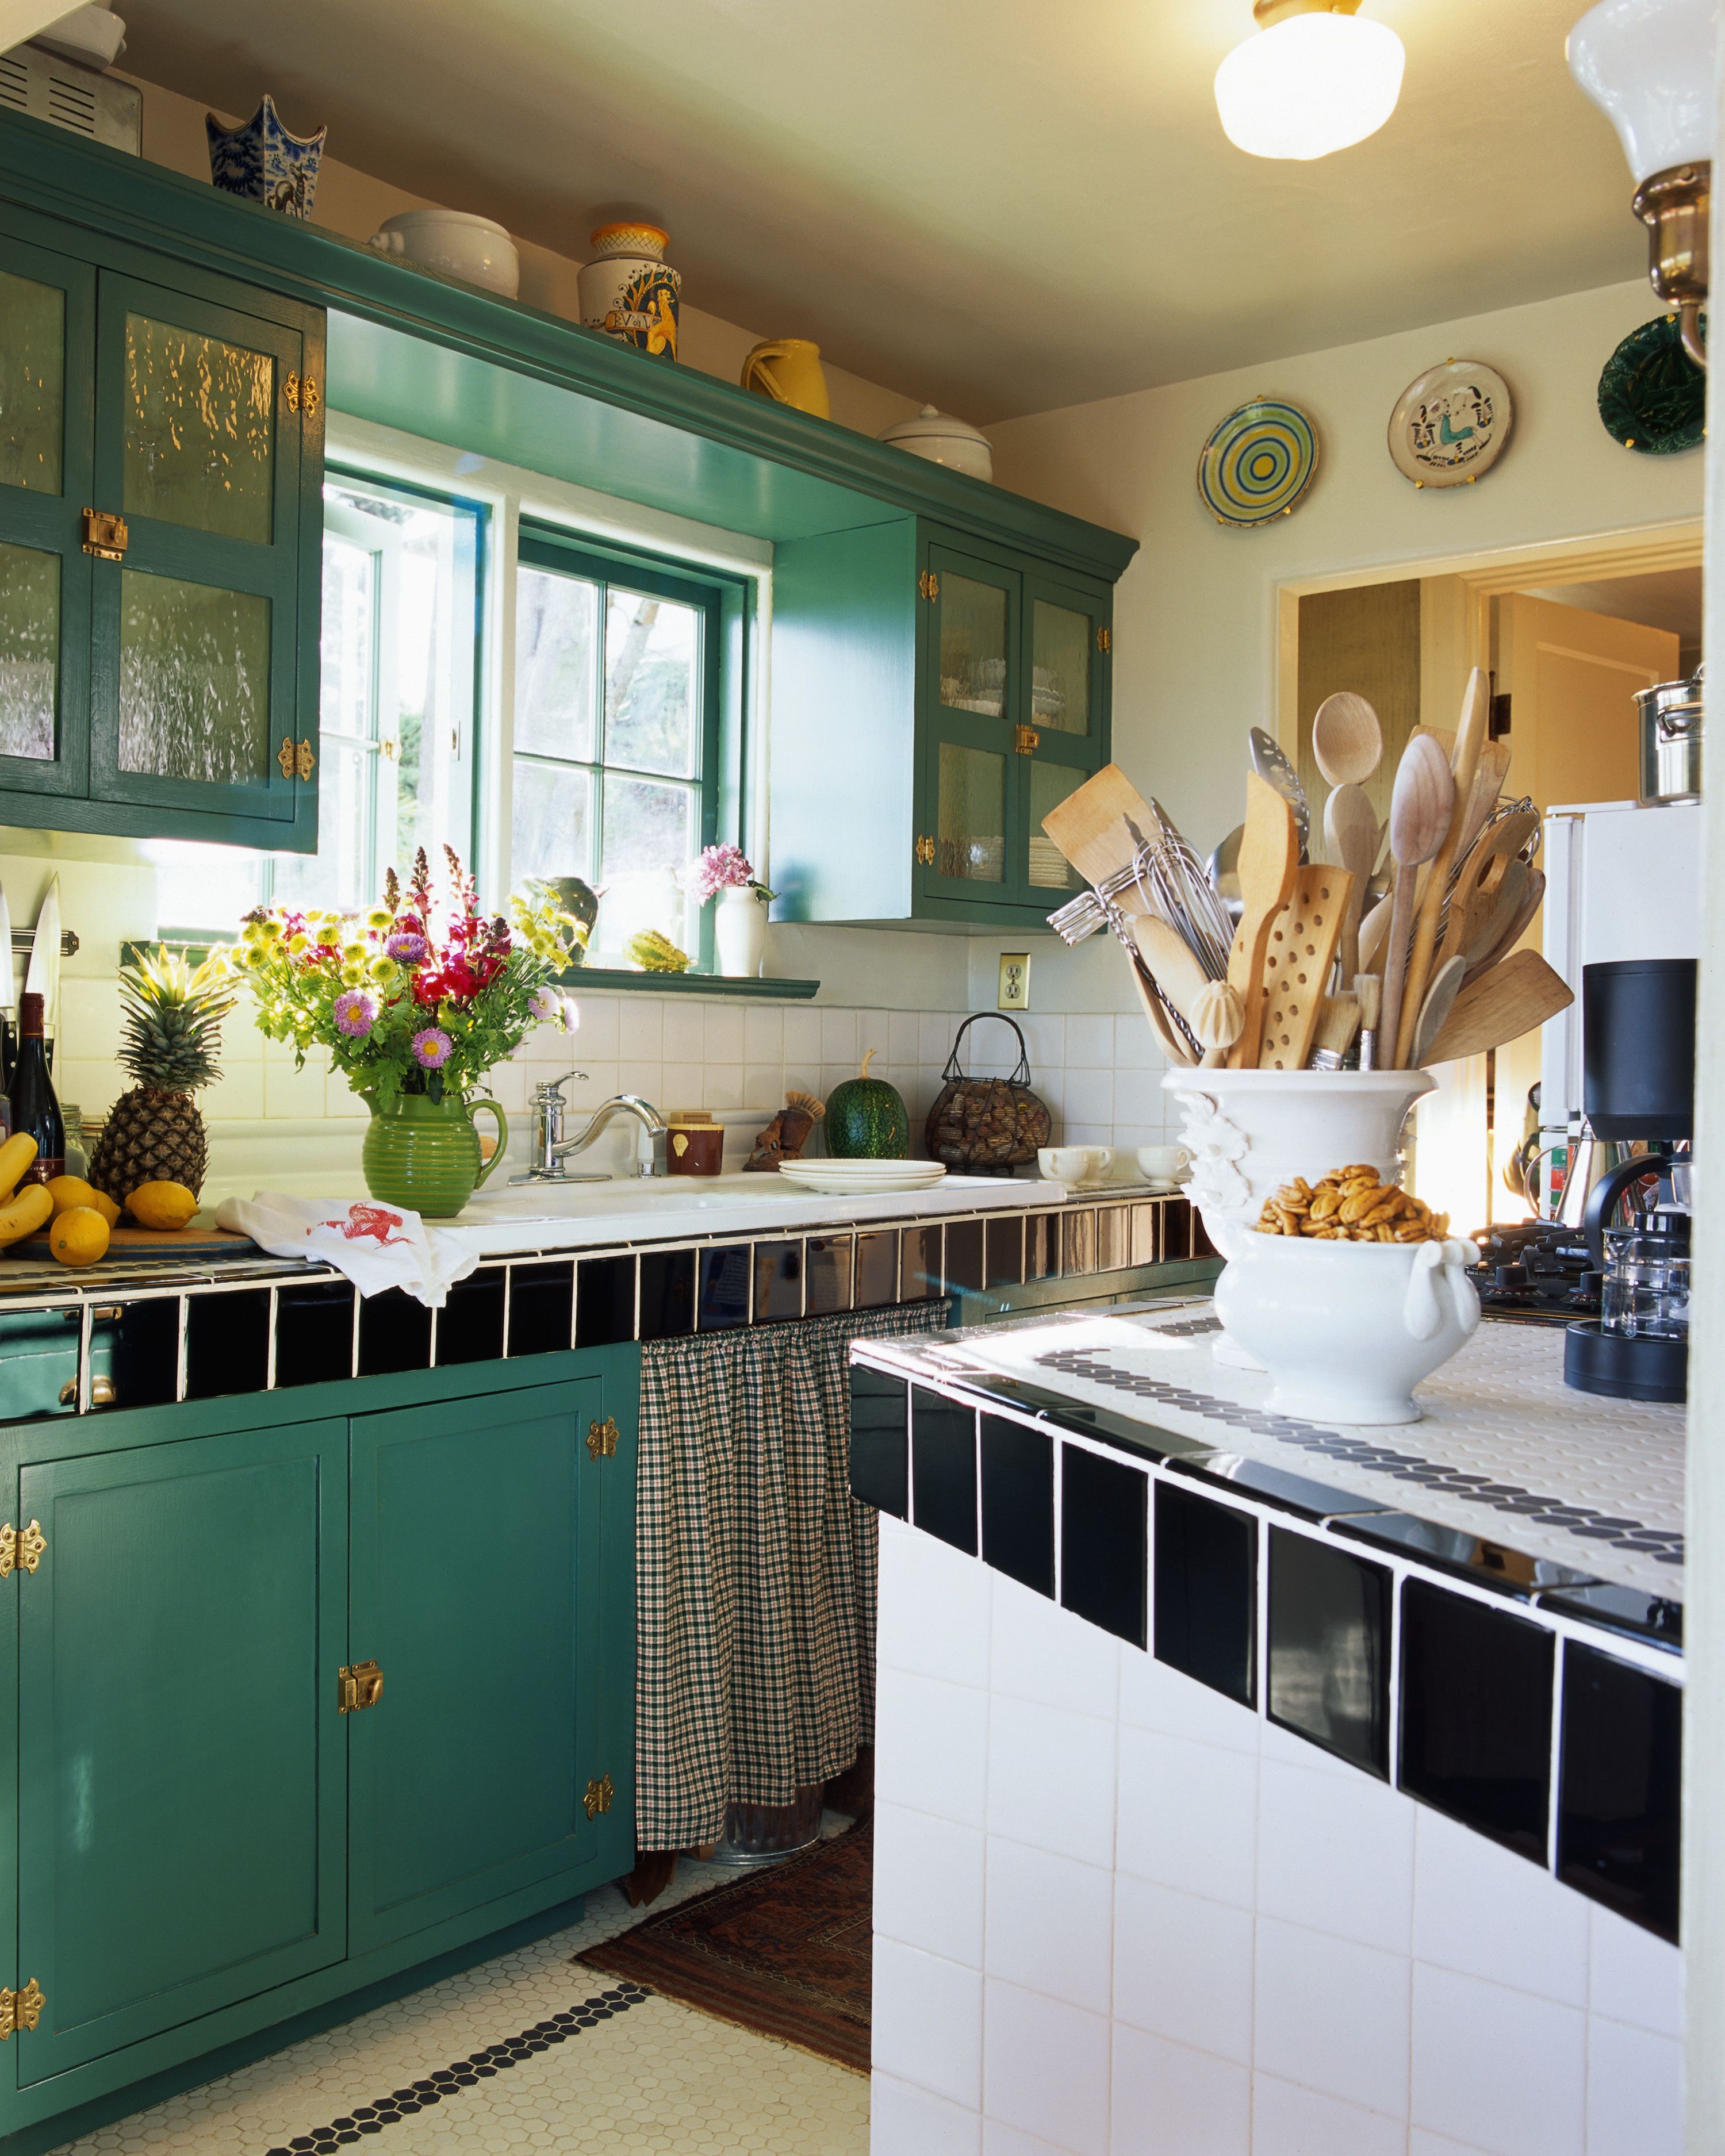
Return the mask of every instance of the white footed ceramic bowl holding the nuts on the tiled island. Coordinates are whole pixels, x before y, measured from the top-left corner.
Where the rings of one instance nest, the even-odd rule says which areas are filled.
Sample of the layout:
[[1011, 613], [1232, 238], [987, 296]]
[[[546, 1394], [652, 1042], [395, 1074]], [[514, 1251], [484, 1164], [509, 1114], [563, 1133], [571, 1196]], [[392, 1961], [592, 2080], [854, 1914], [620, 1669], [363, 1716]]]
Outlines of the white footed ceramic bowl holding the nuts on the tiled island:
[[1311, 1242], [1248, 1231], [1216, 1315], [1270, 1371], [1270, 1414], [1417, 1423], [1412, 1388], [1479, 1324], [1471, 1242]]

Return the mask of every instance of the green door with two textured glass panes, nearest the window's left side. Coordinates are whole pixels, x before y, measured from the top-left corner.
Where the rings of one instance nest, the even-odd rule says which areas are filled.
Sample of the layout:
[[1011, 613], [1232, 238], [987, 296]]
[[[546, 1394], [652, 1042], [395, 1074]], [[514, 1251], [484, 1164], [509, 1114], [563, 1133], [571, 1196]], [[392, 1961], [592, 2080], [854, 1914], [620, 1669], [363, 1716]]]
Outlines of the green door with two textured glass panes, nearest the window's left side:
[[114, 272], [97, 308], [91, 791], [291, 824], [304, 341]]

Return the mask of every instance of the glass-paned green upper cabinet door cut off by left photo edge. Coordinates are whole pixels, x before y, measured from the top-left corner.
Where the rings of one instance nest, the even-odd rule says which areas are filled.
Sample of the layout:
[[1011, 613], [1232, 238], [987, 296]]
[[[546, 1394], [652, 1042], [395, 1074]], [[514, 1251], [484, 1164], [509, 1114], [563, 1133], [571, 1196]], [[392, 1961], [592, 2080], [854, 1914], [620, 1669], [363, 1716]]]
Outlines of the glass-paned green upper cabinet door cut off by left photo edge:
[[88, 778], [95, 270], [0, 235], [0, 787]]

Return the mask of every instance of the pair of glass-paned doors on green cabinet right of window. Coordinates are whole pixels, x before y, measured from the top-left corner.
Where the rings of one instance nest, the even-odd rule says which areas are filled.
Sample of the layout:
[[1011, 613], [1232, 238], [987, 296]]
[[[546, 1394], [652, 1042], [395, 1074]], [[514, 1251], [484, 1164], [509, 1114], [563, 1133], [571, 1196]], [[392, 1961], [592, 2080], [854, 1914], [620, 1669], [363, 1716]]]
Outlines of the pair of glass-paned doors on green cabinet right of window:
[[919, 593], [921, 893], [975, 918], [988, 918], [977, 906], [1052, 912], [1078, 880], [1041, 819], [1106, 755], [1108, 597], [938, 543]]

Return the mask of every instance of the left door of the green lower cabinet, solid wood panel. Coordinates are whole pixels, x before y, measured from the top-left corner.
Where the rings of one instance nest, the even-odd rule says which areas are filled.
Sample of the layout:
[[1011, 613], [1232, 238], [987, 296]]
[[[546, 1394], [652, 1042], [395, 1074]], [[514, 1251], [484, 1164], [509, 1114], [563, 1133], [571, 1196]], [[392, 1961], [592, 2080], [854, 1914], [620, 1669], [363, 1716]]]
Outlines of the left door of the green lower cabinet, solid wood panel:
[[19, 1470], [19, 2087], [345, 1955], [345, 1455], [328, 1421]]

